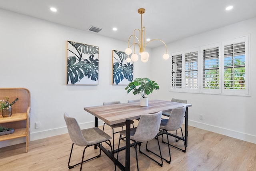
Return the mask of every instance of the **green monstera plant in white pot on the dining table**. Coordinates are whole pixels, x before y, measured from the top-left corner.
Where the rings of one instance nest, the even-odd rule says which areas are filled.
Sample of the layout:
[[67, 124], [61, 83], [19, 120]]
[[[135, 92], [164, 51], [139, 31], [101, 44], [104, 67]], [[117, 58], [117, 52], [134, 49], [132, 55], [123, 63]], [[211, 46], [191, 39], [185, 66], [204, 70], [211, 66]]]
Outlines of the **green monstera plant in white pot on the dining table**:
[[134, 82], [130, 82], [125, 89], [127, 93], [132, 91], [134, 95], [140, 94], [142, 96], [140, 98], [140, 105], [148, 106], [148, 97], [146, 95], [152, 93], [154, 89], [159, 89], [159, 86], [155, 81], [148, 78], [135, 78]]

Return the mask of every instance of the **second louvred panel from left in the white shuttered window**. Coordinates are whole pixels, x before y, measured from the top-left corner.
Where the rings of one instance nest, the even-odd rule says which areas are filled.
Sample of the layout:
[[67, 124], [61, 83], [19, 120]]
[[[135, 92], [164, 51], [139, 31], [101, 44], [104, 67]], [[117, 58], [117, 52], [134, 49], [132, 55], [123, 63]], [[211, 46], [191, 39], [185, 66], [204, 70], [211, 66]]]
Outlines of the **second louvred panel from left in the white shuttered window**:
[[198, 52], [185, 54], [185, 88], [198, 88]]

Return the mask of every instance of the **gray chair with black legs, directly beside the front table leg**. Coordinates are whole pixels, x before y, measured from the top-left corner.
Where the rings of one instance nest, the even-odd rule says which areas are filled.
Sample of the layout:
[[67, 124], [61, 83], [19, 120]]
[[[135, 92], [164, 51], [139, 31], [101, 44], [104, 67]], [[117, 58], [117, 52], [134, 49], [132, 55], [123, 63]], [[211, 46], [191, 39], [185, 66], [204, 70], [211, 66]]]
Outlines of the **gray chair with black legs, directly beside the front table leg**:
[[[158, 134], [159, 128], [160, 128], [161, 117], [162, 117], [162, 111], [159, 111], [158, 113], [154, 113], [154, 114], [141, 115], [138, 126], [130, 129], [130, 139], [135, 144], [134, 147], [135, 147], [135, 153], [136, 153], [137, 170], [139, 170], [137, 145], [139, 145], [139, 152], [146, 155], [145, 153], [143, 153], [140, 150], [140, 146], [141, 146], [142, 142], [146, 142], [146, 151], [149, 151], [149, 152], [153, 153], [154, 155], [157, 155], [158, 157], [161, 158], [161, 163], [159, 163], [158, 161], [156, 161], [155, 159], [153, 159], [152, 157], [150, 157], [148, 155], [146, 155], [146, 156], [149, 157], [150, 159], [152, 159], [153, 161], [155, 161], [156, 163], [158, 163], [158, 165], [160, 165], [160, 166], [163, 165], [162, 153], [161, 153], [161, 149], [160, 149], [160, 145], [159, 145], [159, 140], [158, 140], [158, 137], [156, 137]], [[120, 131], [119, 133], [120, 133], [120, 138], [119, 138], [119, 143], [118, 143], [118, 153], [119, 153], [119, 148], [120, 148], [121, 135], [126, 136], [126, 130]], [[158, 142], [158, 148], [159, 148], [160, 155], [158, 155], [148, 149], [148, 141], [155, 139], [155, 137]], [[118, 159], [118, 153], [117, 153], [117, 159]]]

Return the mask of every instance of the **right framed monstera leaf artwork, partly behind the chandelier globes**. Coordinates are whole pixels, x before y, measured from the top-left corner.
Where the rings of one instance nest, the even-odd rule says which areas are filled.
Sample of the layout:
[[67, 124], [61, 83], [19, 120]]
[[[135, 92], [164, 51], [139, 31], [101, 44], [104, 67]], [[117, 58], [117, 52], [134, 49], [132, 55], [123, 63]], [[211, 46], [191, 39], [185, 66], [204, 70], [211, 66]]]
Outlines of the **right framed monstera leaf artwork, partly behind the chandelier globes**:
[[125, 52], [112, 50], [112, 85], [128, 85], [133, 81], [133, 62], [126, 62]]

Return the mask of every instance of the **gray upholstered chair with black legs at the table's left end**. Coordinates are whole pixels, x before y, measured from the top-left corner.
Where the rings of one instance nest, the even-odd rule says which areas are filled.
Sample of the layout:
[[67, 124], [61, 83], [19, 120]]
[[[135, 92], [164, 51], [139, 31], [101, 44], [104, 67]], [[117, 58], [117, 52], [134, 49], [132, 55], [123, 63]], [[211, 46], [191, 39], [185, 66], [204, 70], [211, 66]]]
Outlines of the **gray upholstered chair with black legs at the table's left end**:
[[[68, 160], [68, 168], [69, 169], [81, 164], [81, 166], [80, 166], [80, 171], [81, 171], [82, 165], [84, 162], [100, 157], [100, 155], [101, 155], [100, 144], [102, 142], [105, 142], [106, 144], [108, 144], [110, 146], [110, 149], [111, 149], [112, 155], [113, 155], [113, 161], [114, 161], [114, 152], [112, 150], [112, 146], [111, 146], [111, 142], [110, 142], [111, 137], [108, 134], [104, 133], [98, 127], [92, 127], [92, 128], [81, 130], [76, 119], [74, 117], [69, 117], [67, 113], [64, 113], [64, 119], [65, 119], [65, 122], [66, 122], [66, 125], [68, 128], [68, 134], [70, 136], [70, 139], [72, 140], [72, 147], [71, 147], [70, 156], [69, 156], [69, 160]], [[74, 144], [76, 144], [78, 146], [85, 147], [84, 152], [87, 147], [90, 147], [93, 145], [99, 145], [100, 154], [98, 154], [94, 157], [91, 157], [90, 159], [84, 160], [84, 152], [83, 152], [82, 161], [80, 163], [70, 166], [70, 159], [71, 159]], [[115, 170], [116, 170], [116, 164], [115, 164]]]

